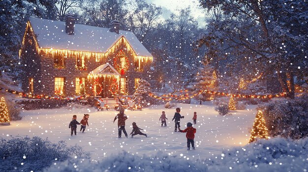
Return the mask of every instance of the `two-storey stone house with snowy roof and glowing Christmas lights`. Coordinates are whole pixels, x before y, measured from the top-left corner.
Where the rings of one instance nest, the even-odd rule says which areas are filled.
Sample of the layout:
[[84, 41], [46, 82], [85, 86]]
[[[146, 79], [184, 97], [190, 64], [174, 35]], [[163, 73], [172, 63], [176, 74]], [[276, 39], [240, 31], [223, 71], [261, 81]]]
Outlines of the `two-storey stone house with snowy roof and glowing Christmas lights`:
[[[132, 95], [146, 77], [151, 53], [129, 31], [30, 17], [20, 49], [22, 89], [31, 94]], [[84, 91], [82, 91], [83, 93]]]

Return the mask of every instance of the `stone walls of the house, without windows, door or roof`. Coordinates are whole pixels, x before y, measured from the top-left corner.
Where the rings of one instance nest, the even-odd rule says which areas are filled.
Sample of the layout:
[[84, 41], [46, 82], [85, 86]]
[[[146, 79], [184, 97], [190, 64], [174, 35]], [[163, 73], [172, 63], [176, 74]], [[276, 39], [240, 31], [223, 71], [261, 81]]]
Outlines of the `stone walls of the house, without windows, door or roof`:
[[[65, 69], [55, 69], [55, 57], [41, 52], [38, 53], [35, 48], [32, 33], [26, 29], [26, 34], [28, 36], [25, 37], [25, 44], [21, 49], [21, 58], [22, 63], [24, 64], [22, 89], [28, 93], [30, 92], [29, 78], [33, 78], [34, 80], [33, 94], [55, 95], [55, 77], [64, 77], [64, 95], [73, 96], [76, 94], [76, 77], [83, 77], [86, 78], [86, 93], [93, 95], [91, 89], [93, 80], [88, 80], [88, 74], [102, 64], [109, 63], [114, 66], [114, 57], [121, 49], [123, 49], [129, 61], [129, 68], [127, 72], [120, 76], [122, 78], [126, 78], [126, 91], [128, 95], [132, 95], [135, 91], [135, 78], [146, 78], [147, 71], [150, 70], [150, 63], [148, 62], [144, 64], [143, 72], [135, 71], [134, 57], [131, 53], [125, 50], [126, 47], [124, 44], [122, 44], [113, 54], [101, 59], [100, 62], [95, 62], [95, 57], [93, 56], [90, 58], [85, 58], [85, 66], [87, 67], [87, 70], [85, 71], [75, 69], [75, 56], [64, 58]], [[109, 79], [108, 81], [103, 81], [101, 79], [99, 81], [104, 87], [104, 92], [100, 96], [111, 97], [111, 94], [107, 88], [109, 88], [112, 80]], [[120, 85], [121, 84], [119, 84], [119, 90], [121, 89]]]

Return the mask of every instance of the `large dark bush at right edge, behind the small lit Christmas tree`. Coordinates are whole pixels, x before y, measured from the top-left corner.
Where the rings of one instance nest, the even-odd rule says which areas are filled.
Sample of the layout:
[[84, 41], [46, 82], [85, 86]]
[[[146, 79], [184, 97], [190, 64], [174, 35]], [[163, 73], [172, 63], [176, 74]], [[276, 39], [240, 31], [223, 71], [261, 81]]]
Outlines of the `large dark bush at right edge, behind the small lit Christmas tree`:
[[278, 99], [260, 105], [271, 137], [300, 139], [308, 136], [308, 95]]

